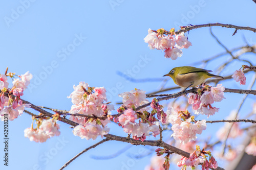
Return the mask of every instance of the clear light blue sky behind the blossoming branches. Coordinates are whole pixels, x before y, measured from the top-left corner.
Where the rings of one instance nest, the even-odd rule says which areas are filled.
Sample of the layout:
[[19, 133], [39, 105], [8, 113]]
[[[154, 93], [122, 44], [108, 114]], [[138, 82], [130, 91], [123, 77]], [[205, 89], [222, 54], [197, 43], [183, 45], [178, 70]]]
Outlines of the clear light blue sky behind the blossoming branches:
[[[201, 28], [189, 32], [188, 40], [193, 46], [183, 50], [181, 58], [175, 61], [166, 59], [163, 52], [150, 50], [144, 43], [148, 28], [177, 30], [178, 26], [189, 23], [215, 22], [256, 28], [255, 6], [252, 1], [244, 1], [242, 8], [241, 1], [220, 0], [5, 1], [0, 6], [0, 73], [4, 74], [6, 67], [18, 75], [30, 71], [34, 76], [31, 80], [33, 86], [25, 91], [23, 99], [38, 106], [70, 110], [72, 103], [67, 96], [73, 91], [73, 85], [80, 81], [94, 87], [104, 86], [109, 102], [115, 104], [121, 101], [118, 93], [134, 88], [152, 92], [161, 85], [161, 82], [129, 82], [118, 76], [117, 71], [131, 72], [135, 79], [162, 78], [173, 67], [191, 65], [224, 52], [223, 47], [210, 35], [209, 28]], [[233, 29], [215, 27], [212, 31], [228, 48], [244, 45], [243, 37], [251, 44], [256, 42], [255, 33], [250, 31], [239, 30], [234, 36], [231, 36]], [[243, 57], [250, 59], [252, 55]], [[229, 58], [228, 55], [223, 56], [205, 68], [216, 71]], [[221, 76], [231, 74], [242, 64], [230, 64]], [[223, 81], [222, 84], [227, 88], [246, 89], [251, 77], [252, 74], [248, 74], [245, 86], [234, 81]], [[175, 86], [173, 81], [168, 81], [166, 87], [172, 86]], [[226, 93], [225, 97], [226, 100], [216, 104], [220, 112], [211, 119], [225, 118], [231, 110], [236, 109], [242, 95]], [[251, 96], [242, 111], [251, 111], [253, 101], [255, 97]], [[3, 127], [3, 123], [0, 124]], [[35, 143], [25, 138], [23, 132], [31, 125], [30, 115], [24, 113], [9, 122], [9, 166], [1, 163], [0, 168], [59, 169], [76, 154], [100, 140], [80, 139], [73, 135], [69, 125], [59, 124], [59, 137], [45, 143]], [[118, 126], [110, 127], [111, 134], [126, 136]], [[209, 132], [215, 133], [214, 125], [208, 128]], [[166, 139], [168, 135], [170, 132], [166, 132]], [[151, 155], [141, 159], [134, 159], [131, 155], [139, 154], [139, 149], [146, 154], [150, 152], [150, 147], [132, 146], [114, 159], [92, 158], [114, 155], [127, 145], [106, 142], [83, 154], [65, 169], [125, 169], [125, 165], [129, 165], [129, 169], [143, 169], [150, 162]], [[0, 147], [2, 154], [3, 144]]]

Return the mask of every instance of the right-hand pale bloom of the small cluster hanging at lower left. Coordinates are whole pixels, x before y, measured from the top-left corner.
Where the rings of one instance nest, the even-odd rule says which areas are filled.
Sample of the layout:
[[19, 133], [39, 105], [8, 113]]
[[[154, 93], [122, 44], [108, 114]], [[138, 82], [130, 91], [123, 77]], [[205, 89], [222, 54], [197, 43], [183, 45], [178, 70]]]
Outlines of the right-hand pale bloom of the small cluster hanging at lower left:
[[42, 129], [42, 131], [45, 131], [45, 133], [50, 137], [60, 135], [59, 125], [56, 123], [53, 123], [52, 119], [43, 120], [40, 128]]

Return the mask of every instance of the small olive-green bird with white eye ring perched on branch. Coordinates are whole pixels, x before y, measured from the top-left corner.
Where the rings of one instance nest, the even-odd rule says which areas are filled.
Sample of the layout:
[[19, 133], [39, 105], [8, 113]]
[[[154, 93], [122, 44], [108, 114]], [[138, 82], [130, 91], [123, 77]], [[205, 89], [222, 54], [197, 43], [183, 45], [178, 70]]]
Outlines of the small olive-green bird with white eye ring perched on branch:
[[175, 84], [185, 87], [183, 90], [185, 91], [188, 87], [196, 87], [211, 77], [224, 79], [222, 76], [212, 75], [209, 72], [211, 72], [211, 70], [183, 66], [173, 68], [167, 75], [164, 76], [171, 77]]

